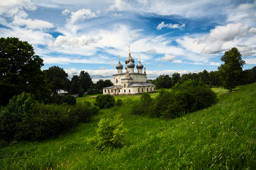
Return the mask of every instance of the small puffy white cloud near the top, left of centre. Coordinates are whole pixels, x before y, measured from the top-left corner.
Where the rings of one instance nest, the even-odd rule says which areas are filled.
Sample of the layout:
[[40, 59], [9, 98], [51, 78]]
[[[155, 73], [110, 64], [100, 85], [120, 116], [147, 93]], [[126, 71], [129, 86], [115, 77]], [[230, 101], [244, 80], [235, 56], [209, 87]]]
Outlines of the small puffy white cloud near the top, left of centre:
[[76, 12], [71, 12], [69, 22], [75, 23], [89, 18], [97, 18], [96, 13], [92, 12], [91, 9], [79, 9]]

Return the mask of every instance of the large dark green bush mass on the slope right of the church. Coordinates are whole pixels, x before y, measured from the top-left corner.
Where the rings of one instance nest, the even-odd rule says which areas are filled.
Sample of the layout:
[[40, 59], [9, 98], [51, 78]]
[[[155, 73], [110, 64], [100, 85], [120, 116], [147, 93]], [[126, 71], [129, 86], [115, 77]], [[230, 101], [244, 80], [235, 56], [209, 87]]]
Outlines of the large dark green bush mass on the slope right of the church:
[[187, 112], [205, 109], [215, 103], [217, 96], [207, 85], [190, 85], [185, 83], [181, 85], [182, 89], [160, 91], [149, 114], [154, 117], [174, 118]]

